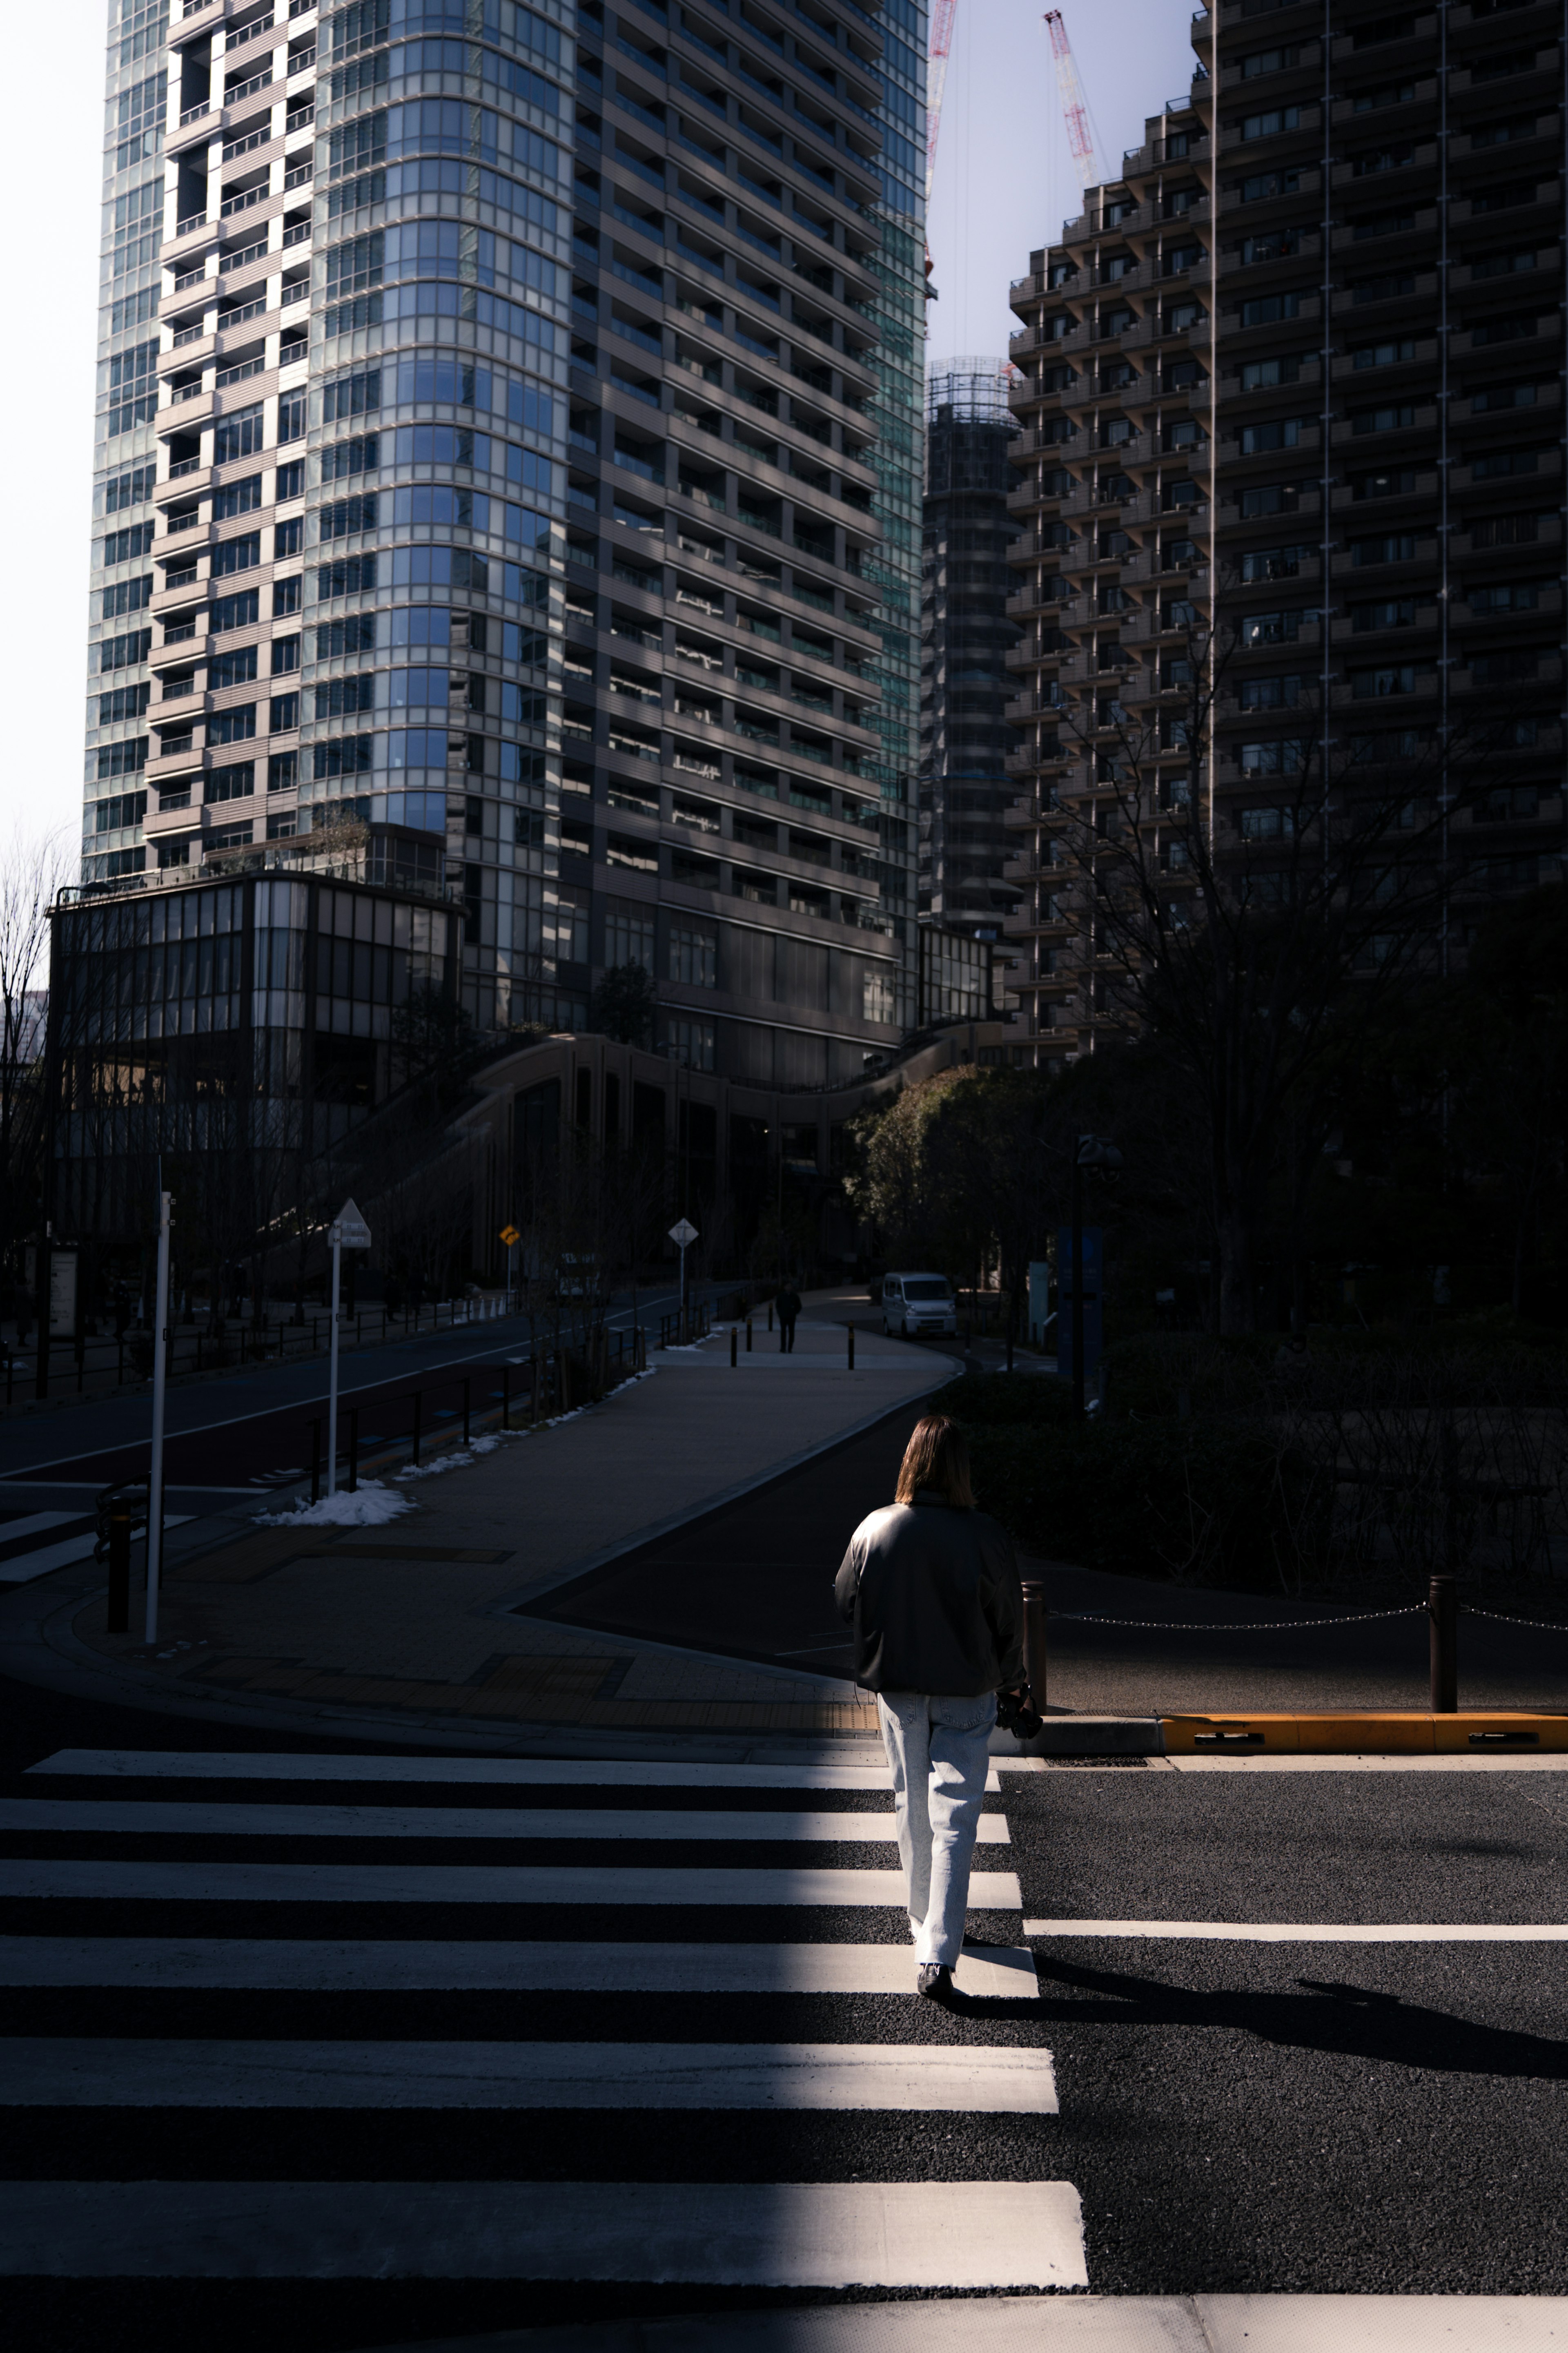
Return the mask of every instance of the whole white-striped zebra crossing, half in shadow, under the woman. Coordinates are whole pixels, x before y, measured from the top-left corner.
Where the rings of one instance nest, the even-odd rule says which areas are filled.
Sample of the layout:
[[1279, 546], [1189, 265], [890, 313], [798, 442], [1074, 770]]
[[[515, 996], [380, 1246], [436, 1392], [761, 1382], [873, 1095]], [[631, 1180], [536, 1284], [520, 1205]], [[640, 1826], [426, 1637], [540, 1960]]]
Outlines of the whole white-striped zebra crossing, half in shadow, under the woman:
[[59, 1751], [0, 1795], [0, 2280], [1086, 2287], [990, 1786], [943, 2014], [879, 1767]]

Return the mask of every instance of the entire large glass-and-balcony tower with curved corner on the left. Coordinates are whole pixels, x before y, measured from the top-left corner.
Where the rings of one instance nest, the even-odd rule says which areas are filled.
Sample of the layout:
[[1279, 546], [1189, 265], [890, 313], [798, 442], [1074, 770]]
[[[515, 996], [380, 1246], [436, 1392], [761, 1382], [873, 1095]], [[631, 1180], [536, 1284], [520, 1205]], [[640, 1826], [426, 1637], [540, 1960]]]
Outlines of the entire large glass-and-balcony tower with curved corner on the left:
[[118, 0], [85, 885], [421, 835], [484, 1028], [896, 1045], [922, 125], [912, 0]]

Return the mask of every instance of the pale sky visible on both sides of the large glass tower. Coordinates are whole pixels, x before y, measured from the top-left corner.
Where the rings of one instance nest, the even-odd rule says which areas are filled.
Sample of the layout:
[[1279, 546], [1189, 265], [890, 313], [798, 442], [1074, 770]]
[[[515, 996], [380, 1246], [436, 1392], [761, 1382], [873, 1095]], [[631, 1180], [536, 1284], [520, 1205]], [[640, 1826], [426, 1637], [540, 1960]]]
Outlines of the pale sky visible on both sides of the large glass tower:
[[[1190, 0], [1067, 0], [1100, 158], [1138, 146], [1143, 118], [1187, 87]], [[0, 372], [9, 562], [0, 572], [0, 854], [14, 833], [78, 833], [92, 544], [92, 409], [103, 169], [106, 0], [19, 9], [0, 141], [9, 315], [31, 320]], [[959, 0], [931, 198], [929, 355], [1006, 355], [1006, 289], [1079, 209], [1051, 42], [1037, 0]], [[42, 616], [42, 626], [40, 626]]]

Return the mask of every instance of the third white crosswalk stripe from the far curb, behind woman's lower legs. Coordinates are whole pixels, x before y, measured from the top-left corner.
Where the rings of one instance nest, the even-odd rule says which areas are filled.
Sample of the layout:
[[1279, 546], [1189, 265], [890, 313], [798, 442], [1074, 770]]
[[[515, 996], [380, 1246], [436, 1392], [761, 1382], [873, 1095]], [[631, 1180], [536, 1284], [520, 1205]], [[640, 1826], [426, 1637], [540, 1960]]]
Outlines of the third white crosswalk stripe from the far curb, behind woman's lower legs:
[[[120, 1904], [827, 1904], [905, 1911], [903, 1871], [649, 1871], [567, 1864], [113, 1864], [0, 1859], [0, 1897]], [[1011, 1871], [973, 1911], [1023, 1911]]]

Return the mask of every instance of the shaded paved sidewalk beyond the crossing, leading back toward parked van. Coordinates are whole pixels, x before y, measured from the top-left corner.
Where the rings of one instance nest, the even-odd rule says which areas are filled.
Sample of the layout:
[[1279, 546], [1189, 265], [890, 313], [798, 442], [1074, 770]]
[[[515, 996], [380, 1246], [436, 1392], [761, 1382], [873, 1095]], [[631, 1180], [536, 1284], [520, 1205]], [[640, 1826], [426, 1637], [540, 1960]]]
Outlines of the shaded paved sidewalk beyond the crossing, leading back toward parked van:
[[512, 1614], [957, 1369], [879, 1334], [872, 1348], [860, 1332], [849, 1374], [849, 1304], [820, 1306], [806, 1306], [795, 1355], [757, 1327], [752, 1355], [743, 1334], [731, 1369], [724, 1327], [696, 1348], [656, 1353], [644, 1379], [583, 1414], [501, 1438], [463, 1468], [395, 1482], [416, 1508], [386, 1527], [200, 1522], [183, 1534], [202, 1548], [169, 1562], [155, 1652], [136, 1633], [106, 1633], [103, 1593], [85, 1598], [103, 1574], [92, 1565], [28, 1588], [35, 1635], [61, 1661], [94, 1661], [113, 1697], [228, 1697], [284, 1706], [301, 1725], [362, 1715], [367, 1729], [870, 1734], [875, 1708], [842, 1678]]

